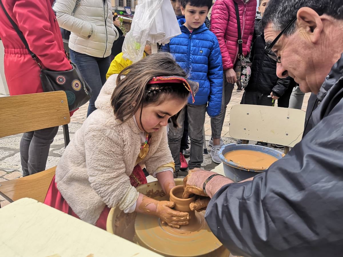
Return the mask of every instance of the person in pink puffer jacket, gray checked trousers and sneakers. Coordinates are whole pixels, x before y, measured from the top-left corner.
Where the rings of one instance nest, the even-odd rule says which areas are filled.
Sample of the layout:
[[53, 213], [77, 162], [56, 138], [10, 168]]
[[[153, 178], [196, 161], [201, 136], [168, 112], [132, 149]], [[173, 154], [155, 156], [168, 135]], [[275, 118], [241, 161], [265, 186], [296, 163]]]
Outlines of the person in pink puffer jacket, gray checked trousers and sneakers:
[[234, 83], [237, 82], [234, 65], [238, 56], [238, 29], [235, 11], [235, 2], [238, 4], [240, 29], [243, 40], [243, 54], [247, 56], [250, 52], [252, 35], [254, 33], [256, 0], [216, 0], [211, 13], [211, 31], [216, 35], [220, 51], [222, 53], [224, 85], [222, 108], [218, 116], [211, 118], [212, 146], [211, 157], [216, 163], [220, 163], [218, 151], [222, 140], [221, 133], [225, 118], [226, 106], [228, 105]]

